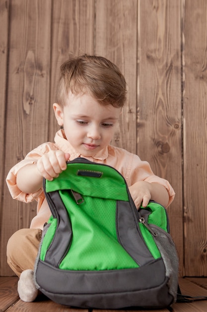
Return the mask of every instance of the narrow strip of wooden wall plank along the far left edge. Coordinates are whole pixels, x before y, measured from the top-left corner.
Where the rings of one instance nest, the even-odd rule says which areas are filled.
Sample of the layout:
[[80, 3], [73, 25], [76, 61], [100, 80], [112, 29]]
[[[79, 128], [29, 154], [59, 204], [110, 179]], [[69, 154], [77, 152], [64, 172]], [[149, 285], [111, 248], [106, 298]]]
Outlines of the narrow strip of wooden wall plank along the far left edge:
[[[5, 107], [6, 107], [6, 81], [7, 81], [7, 54], [8, 54], [8, 2], [0, 0], [0, 215], [3, 210], [3, 186], [4, 186], [4, 151], [5, 151]], [[0, 237], [3, 224], [0, 218]], [[0, 258], [1, 267], [1, 258]]]

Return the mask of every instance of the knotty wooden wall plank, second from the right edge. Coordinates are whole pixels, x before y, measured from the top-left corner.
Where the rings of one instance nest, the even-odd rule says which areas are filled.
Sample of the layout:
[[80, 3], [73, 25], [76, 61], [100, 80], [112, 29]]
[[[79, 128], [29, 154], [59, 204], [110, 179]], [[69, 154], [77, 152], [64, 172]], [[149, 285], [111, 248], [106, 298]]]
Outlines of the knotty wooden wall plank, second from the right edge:
[[175, 189], [168, 213], [182, 275], [181, 2], [138, 3], [138, 155]]

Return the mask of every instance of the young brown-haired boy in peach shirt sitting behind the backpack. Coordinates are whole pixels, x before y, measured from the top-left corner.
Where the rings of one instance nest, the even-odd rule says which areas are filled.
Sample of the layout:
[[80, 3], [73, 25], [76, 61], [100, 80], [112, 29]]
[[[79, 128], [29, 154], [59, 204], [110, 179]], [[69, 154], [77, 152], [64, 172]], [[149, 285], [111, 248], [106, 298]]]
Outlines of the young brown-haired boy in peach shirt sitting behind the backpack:
[[145, 207], [150, 199], [165, 207], [172, 202], [173, 188], [167, 180], [154, 175], [148, 162], [110, 145], [125, 100], [125, 78], [104, 57], [82, 55], [61, 66], [58, 99], [53, 108], [64, 130], [56, 133], [55, 143], [31, 151], [6, 178], [13, 198], [38, 202], [30, 228], [14, 233], [7, 244], [7, 262], [20, 277], [18, 292], [23, 301], [33, 301], [37, 296], [33, 268], [43, 226], [51, 215], [43, 193], [43, 177], [57, 177], [66, 169], [67, 160], [85, 157], [115, 167], [125, 177], [137, 208], [141, 203]]

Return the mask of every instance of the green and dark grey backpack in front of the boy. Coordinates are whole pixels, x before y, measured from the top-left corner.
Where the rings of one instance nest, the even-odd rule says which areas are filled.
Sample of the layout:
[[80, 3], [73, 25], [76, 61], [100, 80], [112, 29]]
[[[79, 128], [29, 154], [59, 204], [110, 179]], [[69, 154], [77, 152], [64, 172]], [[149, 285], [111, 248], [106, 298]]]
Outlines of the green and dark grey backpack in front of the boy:
[[56, 303], [78, 308], [165, 308], [176, 302], [178, 257], [166, 210], [136, 208], [113, 167], [75, 158], [44, 179], [52, 216], [34, 277]]

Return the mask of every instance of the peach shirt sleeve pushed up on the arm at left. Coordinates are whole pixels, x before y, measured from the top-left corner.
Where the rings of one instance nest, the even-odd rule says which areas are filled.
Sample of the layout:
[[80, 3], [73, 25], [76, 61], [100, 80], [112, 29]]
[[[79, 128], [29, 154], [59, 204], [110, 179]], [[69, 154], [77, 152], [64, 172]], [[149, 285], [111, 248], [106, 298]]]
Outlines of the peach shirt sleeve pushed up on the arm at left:
[[17, 184], [16, 184], [16, 176], [18, 171], [28, 165], [28, 164], [33, 164], [37, 162], [37, 160], [43, 156], [44, 154], [48, 153], [51, 150], [57, 150], [58, 148], [54, 143], [45, 143], [40, 145], [38, 148], [34, 149], [30, 153], [27, 154], [27, 156], [18, 162], [16, 165], [14, 165], [8, 172], [7, 177], [6, 177], [6, 184], [8, 186], [9, 192], [11, 194], [11, 197], [23, 202], [31, 202], [33, 200], [39, 201], [41, 199], [44, 199], [44, 192], [43, 192], [43, 187], [41, 187], [37, 192], [35, 193], [24, 193], [22, 192]]

